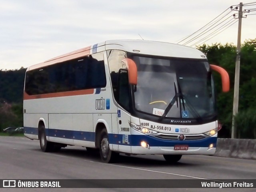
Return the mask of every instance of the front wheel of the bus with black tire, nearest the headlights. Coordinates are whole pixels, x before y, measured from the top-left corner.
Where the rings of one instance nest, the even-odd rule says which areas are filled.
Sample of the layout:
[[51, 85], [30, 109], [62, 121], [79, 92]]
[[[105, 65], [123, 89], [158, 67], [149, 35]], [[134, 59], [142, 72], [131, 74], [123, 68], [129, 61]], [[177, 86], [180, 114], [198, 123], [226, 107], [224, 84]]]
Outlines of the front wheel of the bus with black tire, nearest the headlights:
[[111, 151], [108, 142], [108, 132], [103, 129], [100, 133], [100, 158], [104, 163], [114, 163], [118, 161], [119, 153]]

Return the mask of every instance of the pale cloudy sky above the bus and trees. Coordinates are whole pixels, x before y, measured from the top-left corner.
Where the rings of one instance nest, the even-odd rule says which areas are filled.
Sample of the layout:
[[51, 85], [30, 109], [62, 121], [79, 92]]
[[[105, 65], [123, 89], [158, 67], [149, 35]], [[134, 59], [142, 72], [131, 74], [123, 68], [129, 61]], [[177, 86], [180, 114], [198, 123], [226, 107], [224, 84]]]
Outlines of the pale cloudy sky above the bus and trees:
[[[0, 0], [0, 70], [26, 68], [105, 40], [142, 36], [144, 40], [177, 43], [239, 3], [236, 0]], [[256, 38], [255, 21], [256, 15], [242, 19], [242, 42]], [[237, 33], [238, 22], [206, 44], [236, 45]]]

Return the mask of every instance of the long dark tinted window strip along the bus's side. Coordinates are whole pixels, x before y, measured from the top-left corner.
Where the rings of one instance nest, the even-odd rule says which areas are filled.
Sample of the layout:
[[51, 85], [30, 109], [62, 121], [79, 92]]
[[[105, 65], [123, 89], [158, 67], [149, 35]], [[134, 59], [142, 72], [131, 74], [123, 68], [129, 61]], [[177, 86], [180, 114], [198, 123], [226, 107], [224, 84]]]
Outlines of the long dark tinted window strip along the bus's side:
[[103, 53], [54, 64], [26, 73], [29, 95], [103, 88], [106, 74]]

